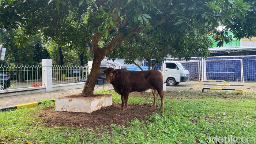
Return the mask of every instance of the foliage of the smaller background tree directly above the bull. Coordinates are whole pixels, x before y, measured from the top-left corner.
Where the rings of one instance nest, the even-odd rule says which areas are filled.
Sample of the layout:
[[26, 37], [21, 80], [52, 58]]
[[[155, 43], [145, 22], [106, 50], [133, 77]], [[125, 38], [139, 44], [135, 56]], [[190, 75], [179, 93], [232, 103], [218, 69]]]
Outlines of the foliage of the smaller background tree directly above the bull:
[[[158, 62], [165, 59], [166, 56], [172, 55], [176, 58], [185, 57], [187, 60], [191, 56], [206, 57], [209, 55], [208, 48], [212, 46], [212, 41], [206, 36], [195, 37], [190, 35], [187, 37], [166, 38], [163, 33], [138, 34], [129, 41], [124, 41], [117, 45], [117, 48], [109, 54], [110, 59], [124, 58], [125, 63], [135, 64], [140, 68], [140, 65], [135, 63], [135, 60], [146, 59], [148, 69], [153, 70]], [[170, 41], [170, 42], [166, 42]], [[183, 43], [180, 44], [179, 41]], [[151, 65], [150, 60], [154, 58], [155, 61]], [[140, 68], [142, 69], [142, 68]]]

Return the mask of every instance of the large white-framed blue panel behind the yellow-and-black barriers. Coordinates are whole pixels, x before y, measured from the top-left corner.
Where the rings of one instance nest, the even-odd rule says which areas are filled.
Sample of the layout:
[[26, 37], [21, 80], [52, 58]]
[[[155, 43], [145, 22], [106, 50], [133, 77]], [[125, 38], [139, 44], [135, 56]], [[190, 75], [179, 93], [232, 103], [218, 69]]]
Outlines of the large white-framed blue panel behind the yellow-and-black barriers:
[[244, 82], [242, 59], [205, 60], [207, 80]]

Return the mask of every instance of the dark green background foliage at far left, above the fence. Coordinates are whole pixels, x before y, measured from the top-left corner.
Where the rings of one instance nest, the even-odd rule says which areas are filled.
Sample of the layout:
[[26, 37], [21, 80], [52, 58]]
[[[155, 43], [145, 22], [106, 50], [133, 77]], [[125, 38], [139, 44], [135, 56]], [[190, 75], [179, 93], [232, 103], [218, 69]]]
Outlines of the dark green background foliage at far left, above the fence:
[[22, 30], [11, 30], [11, 29], [0, 29], [0, 44], [7, 48], [5, 62], [8, 64], [15, 63], [19, 66], [20, 64], [38, 64], [41, 59], [50, 58], [48, 50], [42, 45], [42, 38], [40, 35], [26, 35], [25, 43], [20, 45], [15, 44], [17, 37], [23, 37]]

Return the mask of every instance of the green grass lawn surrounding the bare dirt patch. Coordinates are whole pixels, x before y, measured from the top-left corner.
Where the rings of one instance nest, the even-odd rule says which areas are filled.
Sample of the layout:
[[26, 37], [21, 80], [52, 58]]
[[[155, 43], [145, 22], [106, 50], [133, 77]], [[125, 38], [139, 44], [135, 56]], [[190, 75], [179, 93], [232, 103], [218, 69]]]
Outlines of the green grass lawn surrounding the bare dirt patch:
[[[104, 93], [113, 94], [114, 103], [121, 102], [120, 95], [115, 92], [104, 91]], [[182, 94], [179, 99], [166, 96], [162, 114], [153, 114], [144, 120], [135, 119], [129, 122], [127, 127], [112, 124], [108, 128], [102, 127], [98, 130], [48, 128], [39, 117], [33, 116], [43, 107], [54, 105], [47, 100], [37, 107], [0, 112], [0, 143], [204, 144], [215, 140], [229, 143], [250, 143], [252, 140], [252, 143], [256, 143], [256, 100], [252, 99], [256, 93], [248, 93], [245, 98], [218, 98], [212, 92], [204, 93], [204, 97], [186, 98], [189, 93], [178, 93]], [[200, 92], [193, 92], [194, 96], [197, 94], [202, 95]], [[221, 94], [230, 95], [225, 92]], [[152, 95], [148, 97], [130, 95], [128, 104], [152, 102]], [[160, 105], [160, 98], [157, 103]]]

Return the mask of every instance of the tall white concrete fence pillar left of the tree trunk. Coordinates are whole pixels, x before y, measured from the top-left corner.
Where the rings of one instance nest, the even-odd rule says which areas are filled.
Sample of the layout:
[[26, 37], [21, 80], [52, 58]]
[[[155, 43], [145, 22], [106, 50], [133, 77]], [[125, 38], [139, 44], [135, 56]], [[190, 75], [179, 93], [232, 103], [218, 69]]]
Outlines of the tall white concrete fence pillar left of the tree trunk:
[[42, 86], [46, 86], [45, 91], [52, 91], [52, 60], [42, 59]]

